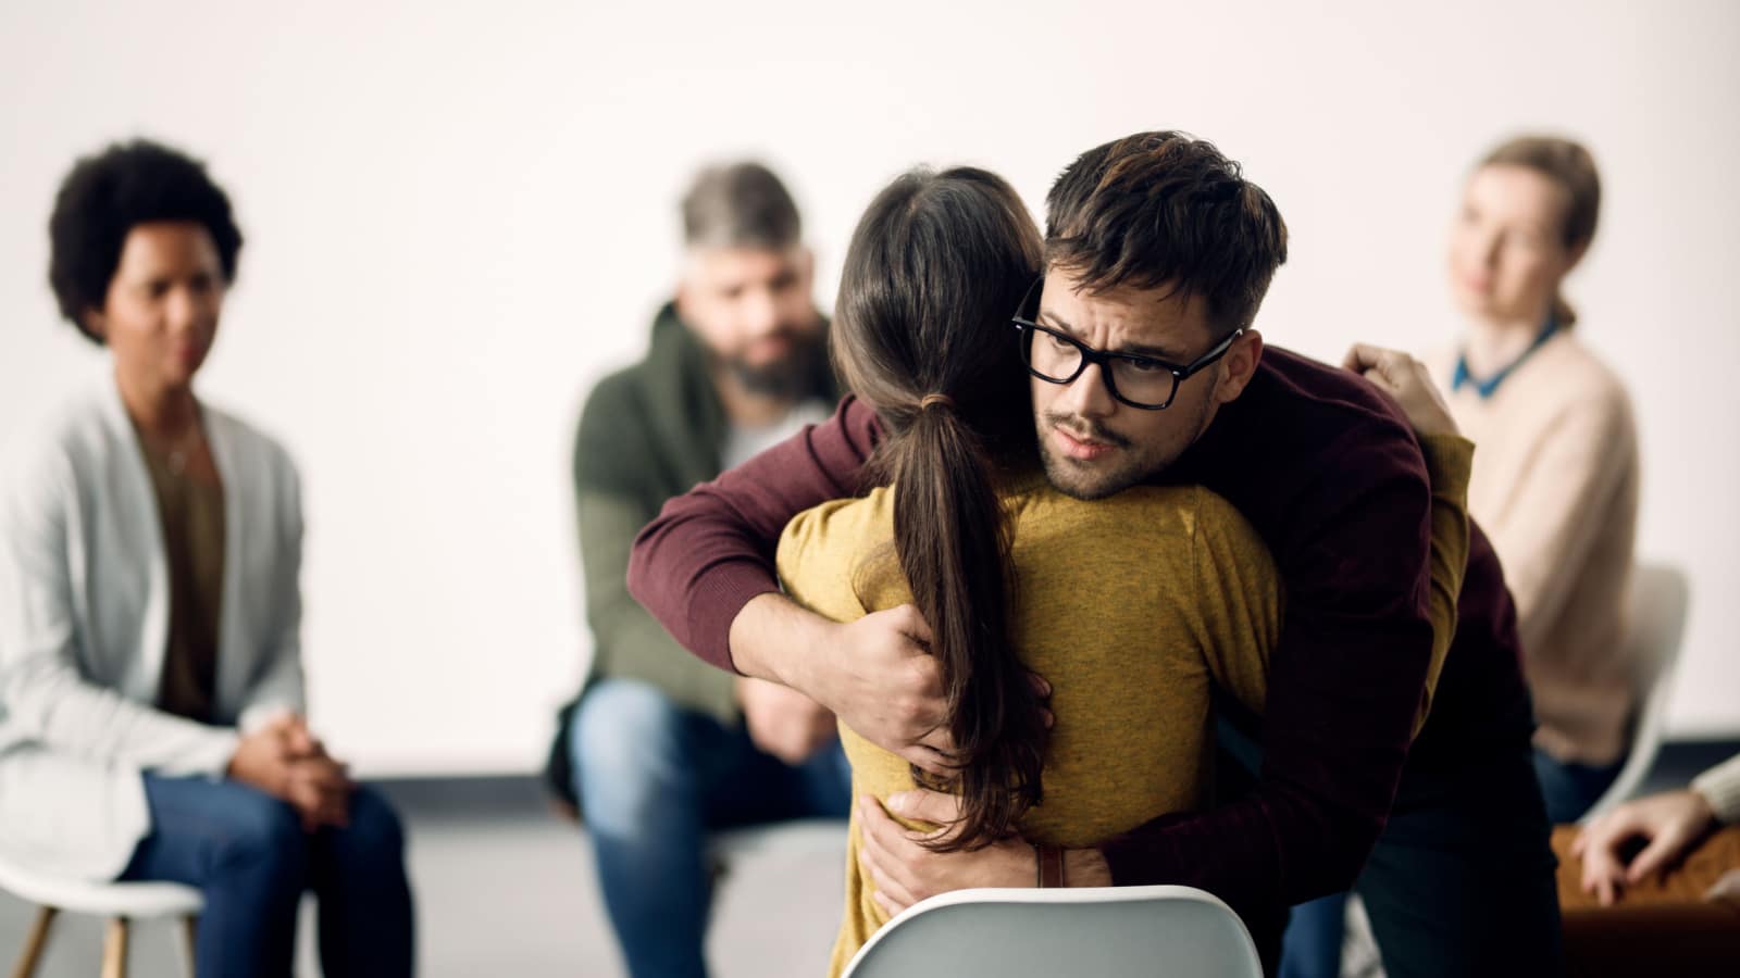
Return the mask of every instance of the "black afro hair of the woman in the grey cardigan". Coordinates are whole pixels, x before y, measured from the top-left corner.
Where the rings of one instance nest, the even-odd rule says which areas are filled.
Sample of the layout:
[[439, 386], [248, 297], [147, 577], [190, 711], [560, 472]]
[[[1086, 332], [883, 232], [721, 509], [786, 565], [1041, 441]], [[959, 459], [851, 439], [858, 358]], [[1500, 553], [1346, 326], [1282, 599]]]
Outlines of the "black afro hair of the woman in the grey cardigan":
[[242, 231], [230, 216], [230, 198], [198, 160], [134, 139], [80, 158], [61, 181], [49, 218], [49, 285], [61, 315], [85, 339], [103, 345], [84, 317], [103, 308], [127, 233], [157, 221], [204, 224], [224, 282], [235, 282]]

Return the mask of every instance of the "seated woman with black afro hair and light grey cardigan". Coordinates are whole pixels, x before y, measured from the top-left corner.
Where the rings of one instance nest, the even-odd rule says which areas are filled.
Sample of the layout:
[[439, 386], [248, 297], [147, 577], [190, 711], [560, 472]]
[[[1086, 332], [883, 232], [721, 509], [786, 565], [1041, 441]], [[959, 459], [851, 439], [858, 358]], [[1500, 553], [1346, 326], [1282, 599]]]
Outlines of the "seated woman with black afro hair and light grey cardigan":
[[398, 816], [303, 719], [296, 468], [193, 392], [230, 200], [176, 150], [117, 144], [66, 176], [49, 238], [61, 313], [113, 372], [0, 494], [0, 851], [198, 888], [200, 978], [289, 973], [304, 889], [327, 975], [411, 975]]

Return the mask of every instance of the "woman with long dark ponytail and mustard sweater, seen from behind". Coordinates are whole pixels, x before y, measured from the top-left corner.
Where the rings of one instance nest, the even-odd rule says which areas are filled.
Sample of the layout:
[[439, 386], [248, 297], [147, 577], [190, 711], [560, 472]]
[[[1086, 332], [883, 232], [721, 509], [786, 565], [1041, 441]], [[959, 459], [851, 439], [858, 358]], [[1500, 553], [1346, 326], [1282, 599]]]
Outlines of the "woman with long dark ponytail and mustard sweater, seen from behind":
[[[1140, 358], [1084, 369], [1075, 341], [1035, 322], [1039, 263], [1025, 207], [985, 171], [912, 172], [870, 204], [833, 339], [840, 374], [884, 425], [872, 468], [891, 484], [799, 515], [778, 567], [793, 600], [837, 621], [915, 606], [929, 625], [952, 771], [924, 773], [842, 726], [854, 792], [954, 792], [952, 825], [903, 825], [936, 828], [934, 851], [997, 847], [1063, 886], [1067, 849], [1208, 804], [1209, 687], [1262, 712], [1281, 588], [1251, 526], [1199, 486], [1077, 498], [1047, 480], [1027, 372], [1155, 409], [1174, 378]], [[1021, 310], [1013, 324], [1009, 308]], [[1220, 353], [1237, 334], [1202, 329]], [[1216, 367], [1201, 383], [1227, 381]], [[849, 830], [835, 975], [912, 900], [868, 858], [870, 816], [856, 811]]]

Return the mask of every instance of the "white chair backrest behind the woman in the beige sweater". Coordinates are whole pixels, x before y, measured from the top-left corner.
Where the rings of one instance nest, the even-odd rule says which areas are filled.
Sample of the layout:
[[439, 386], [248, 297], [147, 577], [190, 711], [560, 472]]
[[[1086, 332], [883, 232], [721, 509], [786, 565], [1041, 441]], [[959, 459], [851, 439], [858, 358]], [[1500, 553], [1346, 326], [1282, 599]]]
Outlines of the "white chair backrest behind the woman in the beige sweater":
[[1691, 585], [1670, 564], [1637, 564], [1625, 600], [1625, 661], [1637, 670], [1637, 707], [1630, 719], [1630, 754], [1618, 776], [1582, 821], [1611, 811], [1637, 792], [1662, 748], [1667, 700], [1674, 693], [1674, 665], [1691, 609]]

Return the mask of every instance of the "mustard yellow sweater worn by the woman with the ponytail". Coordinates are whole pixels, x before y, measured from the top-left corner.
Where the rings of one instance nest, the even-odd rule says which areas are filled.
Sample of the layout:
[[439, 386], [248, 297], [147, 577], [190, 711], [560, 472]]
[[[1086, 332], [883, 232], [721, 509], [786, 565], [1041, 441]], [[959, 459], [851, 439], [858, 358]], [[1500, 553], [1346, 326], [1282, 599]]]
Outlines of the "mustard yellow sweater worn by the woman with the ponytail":
[[[1425, 449], [1434, 484], [1436, 680], [1467, 560], [1472, 445], [1430, 439]], [[1056, 717], [1046, 800], [1023, 818], [1021, 834], [1089, 847], [1161, 814], [1201, 807], [1213, 748], [1211, 684], [1256, 712], [1267, 694], [1282, 595], [1263, 541], [1230, 503], [1195, 486], [1136, 487], [1084, 503], [1032, 477], [1004, 501], [1016, 654], [1051, 682]], [[778, 550], [788, 595], [835, 621], [910, 604], [893, 552], [893, 491], [882, 487], [799, 513]], [[853, 797], [886, 799], [915, 787], [898, 755], [846, 726], [840, 741], [853, 764]], [[854, 807], [830, 975], [887, 922], [858, 865], [860, 844]]]

